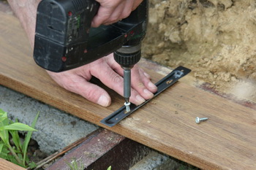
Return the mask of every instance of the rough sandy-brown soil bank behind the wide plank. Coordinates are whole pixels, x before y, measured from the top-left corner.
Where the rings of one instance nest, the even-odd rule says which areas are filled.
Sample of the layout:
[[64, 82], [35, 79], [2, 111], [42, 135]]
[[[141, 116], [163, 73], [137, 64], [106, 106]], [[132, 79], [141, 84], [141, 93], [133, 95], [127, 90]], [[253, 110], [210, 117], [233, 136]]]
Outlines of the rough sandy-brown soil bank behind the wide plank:
[[255, 8], [252, 0], [151, 0], [143, 57], [256, 101]]

